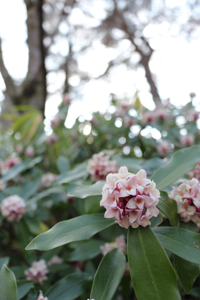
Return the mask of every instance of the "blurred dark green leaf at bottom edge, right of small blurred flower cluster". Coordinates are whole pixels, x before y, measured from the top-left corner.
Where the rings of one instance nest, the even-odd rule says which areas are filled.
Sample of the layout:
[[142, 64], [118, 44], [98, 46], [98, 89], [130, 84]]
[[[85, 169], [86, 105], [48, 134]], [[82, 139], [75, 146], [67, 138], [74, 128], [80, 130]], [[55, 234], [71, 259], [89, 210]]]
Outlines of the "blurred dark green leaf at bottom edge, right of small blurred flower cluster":
[[91, 279], [87, 273], [74, 272], [54, 283], [45, 296], [48, 300], [73, 300], [83, 293], [84, 282]]

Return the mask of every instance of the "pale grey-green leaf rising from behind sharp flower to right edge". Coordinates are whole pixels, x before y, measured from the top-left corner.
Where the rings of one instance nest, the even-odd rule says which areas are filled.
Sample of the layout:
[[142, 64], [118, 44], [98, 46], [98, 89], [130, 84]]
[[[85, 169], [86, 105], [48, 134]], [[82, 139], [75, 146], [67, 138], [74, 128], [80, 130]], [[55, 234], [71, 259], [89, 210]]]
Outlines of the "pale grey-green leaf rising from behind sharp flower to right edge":
[[151, 180], [156, 183], [158, 190], [175, 182], [181, 176], [196, 167], [199, 162], [200, 146], [191, 146], [176, 151], [168, 164], [153, 173]]

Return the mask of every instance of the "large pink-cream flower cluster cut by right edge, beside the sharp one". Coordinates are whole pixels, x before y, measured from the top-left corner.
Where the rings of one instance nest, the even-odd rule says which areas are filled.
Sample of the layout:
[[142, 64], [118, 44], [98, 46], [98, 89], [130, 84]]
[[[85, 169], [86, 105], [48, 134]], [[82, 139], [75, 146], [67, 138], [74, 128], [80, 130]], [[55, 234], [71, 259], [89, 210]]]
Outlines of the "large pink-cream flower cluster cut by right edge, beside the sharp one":
[[200, 227], [200, 182], [196, 178], [180, 179], [174, 186], [170, 197], [178, 204], [178, 213], [183, 222], [193, 221]]

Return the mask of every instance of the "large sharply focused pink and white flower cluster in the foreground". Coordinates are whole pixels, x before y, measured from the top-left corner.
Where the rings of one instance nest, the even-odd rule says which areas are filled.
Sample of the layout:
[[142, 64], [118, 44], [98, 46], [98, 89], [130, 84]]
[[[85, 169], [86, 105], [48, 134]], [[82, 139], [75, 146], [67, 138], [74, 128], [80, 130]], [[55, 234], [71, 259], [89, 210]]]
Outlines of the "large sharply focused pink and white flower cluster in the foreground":
[[145, 170], [135, 175], [121, 167], [119, 173], [108, 174], [100, 205], [106, 208], [105, 218], [115, 217], [121, 227], [146, 227], [150, 218], [159, 214], [159, 197], [156, 184], [147, 179]]

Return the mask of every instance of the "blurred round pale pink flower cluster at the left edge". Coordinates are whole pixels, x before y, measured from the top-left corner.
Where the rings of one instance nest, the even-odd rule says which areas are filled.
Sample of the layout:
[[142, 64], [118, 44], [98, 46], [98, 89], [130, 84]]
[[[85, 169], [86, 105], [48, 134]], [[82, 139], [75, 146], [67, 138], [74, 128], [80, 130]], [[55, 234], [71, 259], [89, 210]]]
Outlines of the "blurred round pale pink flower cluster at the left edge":
[[19, 221], [25, 213], [26, 204], [18, 195], [12, 195], [2, 200], [1, 213], [8, 221]]

